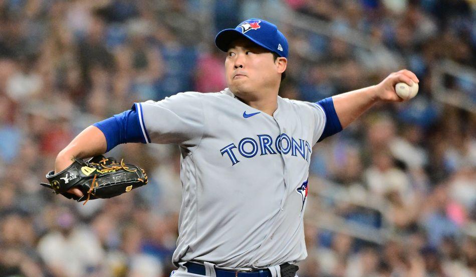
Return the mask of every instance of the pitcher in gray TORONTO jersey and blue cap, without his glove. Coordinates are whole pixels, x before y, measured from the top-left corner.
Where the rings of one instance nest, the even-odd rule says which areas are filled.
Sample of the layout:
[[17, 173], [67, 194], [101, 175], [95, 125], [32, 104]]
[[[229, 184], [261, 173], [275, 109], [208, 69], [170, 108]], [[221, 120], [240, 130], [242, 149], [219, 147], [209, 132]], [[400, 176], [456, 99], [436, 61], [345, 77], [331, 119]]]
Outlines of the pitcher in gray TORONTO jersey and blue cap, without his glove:
[[[288, 41], [275, 25], [249, 19], [219, 32], [215, 44], [226, 52], [227, 88], [134, 103], [83, 130], [58, 154], [55, 172], [123, 143], [176, 144], [183, 194], [171, 276], [295, 276], [295, 263], [307, 255], [303, 213], [313, 146], [373, 104], [402, 101], [395, 84], [418, 79], [401, 70], [316, 103], [290, 100], [278, 96]], [[91, 190], [73, 186], [62, 193], [85, 199], [85, 192]]]

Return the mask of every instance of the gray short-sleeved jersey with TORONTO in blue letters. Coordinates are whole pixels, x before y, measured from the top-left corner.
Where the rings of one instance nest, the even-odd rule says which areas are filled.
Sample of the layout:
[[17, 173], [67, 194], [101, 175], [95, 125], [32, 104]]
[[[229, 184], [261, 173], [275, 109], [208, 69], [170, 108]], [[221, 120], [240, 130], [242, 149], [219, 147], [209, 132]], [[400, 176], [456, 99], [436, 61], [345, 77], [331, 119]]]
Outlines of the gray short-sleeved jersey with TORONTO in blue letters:
[[315, 103], [278, 97], [273, 116], [229, 89], [136, 104], [147, 143], [181, 150], [182, 204], [173, 261], [267, 267], [303, 260]]

